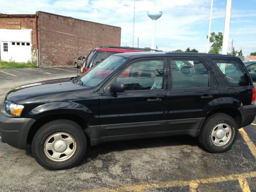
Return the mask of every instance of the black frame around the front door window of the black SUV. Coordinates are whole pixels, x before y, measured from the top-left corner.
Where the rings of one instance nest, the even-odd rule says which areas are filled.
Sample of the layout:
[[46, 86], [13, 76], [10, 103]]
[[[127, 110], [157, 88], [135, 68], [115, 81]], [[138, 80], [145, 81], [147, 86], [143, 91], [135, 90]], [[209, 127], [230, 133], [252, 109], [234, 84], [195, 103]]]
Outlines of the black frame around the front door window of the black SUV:
[[139, 62], [139, 61], [147, 61], [147, 60], [162, 60], [163, 61], [163, 67], [164, 67], [164, 79], [163, 79], [163, 89], [161, 90], [126, 90], [125, 92], [145, 92], [145, 91], [166, 91], [167, 90], [167, 77], [168, 77], [168, 72], [167, 72], [167, 57], [147, 57], [147, 58], [138, 58], [138, 59], [133, 59], [129, 62], [126, 63], [126, 65], [124, 65], [122, 68], [120, 68], [118, 71], [116, 71], [116, 73], [114, 73], [108, 80], [106, 80], [102, 87], [103, 89], [101, 89], [100, 92], [103, 93], [110, 93], [110, 91], [108, 90], [108, 87], [110, 86], [110, 84], [113, 82], [113, 80], [120, 75], [125, 69], [127, 69], [128, 67], [130, 67], [131, 65], [133, 65], [133, 63]]

